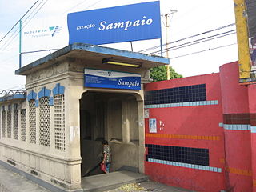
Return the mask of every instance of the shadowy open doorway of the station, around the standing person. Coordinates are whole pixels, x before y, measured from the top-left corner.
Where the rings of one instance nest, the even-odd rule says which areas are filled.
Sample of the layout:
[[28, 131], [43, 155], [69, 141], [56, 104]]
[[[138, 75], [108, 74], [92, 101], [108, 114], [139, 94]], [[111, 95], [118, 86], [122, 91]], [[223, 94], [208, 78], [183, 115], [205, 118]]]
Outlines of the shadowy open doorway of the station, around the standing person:
[[111, 148], [110, 172], [138, 172], [138, 102], [135, 94], [85, 92], [80, 99], [82, 177], [102, 174], [102, 140]]

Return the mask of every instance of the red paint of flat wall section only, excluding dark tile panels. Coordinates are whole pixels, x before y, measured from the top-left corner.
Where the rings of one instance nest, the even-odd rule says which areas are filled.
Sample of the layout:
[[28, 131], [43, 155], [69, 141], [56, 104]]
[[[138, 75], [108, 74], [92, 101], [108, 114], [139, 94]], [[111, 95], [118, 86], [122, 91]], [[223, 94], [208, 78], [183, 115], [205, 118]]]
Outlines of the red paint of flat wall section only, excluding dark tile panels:
[[[164, 82], [153, 82], [145, 90], [161, 90], [180, 86], [206, 84], [206, 100], [218, 100], [218, 105], [182, 106], [150, 109], [150, 118], [156, 118], [158, 133], [164, 135], [187, 135], [190, 138], [146, 137], [146, 144], [206, 148], [210, 153], [210, 166], [222, 168], [222, 173], [195, 170], [179, 166], [145, 162], [146, 174], [158, 182], [197, 191], [219, 191], [225, 189], [224, 182], [224, 139], [222, 127], [222, 101], [219, 74], [179, 78]], [[146, 134], [149, 133], [148, 119]], [[191, 138], [191, 136], [194, 136]], [[203, 136], [203, 137], [202, 137]], [[214, 137], [216, 140], [208, 137]], [[179, 136], [178, 136], [179, 137]], [[203, 139], [202, 139], [203, 138]]]

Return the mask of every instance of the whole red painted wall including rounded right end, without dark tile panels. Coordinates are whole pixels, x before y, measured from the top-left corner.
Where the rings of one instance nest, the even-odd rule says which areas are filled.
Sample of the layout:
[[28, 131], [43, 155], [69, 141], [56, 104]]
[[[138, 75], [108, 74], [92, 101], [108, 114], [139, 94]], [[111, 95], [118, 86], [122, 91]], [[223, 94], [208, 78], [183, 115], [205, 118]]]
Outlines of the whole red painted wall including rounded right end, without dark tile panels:
[[216, 173], [146, 161], [150, 178], [196, 191], [256, 192], [256, 85], [240, 86], [238, 80], [238, 62], [231, 62], [219, 74], [146, 84], [146, 91], [206, 84], [206, 100], [218, 100], [218, 105], [150, 108], [157, 133], [149, 134], [146, 118], [145, 141], [209, 149], [209, 166], [222, 169]]

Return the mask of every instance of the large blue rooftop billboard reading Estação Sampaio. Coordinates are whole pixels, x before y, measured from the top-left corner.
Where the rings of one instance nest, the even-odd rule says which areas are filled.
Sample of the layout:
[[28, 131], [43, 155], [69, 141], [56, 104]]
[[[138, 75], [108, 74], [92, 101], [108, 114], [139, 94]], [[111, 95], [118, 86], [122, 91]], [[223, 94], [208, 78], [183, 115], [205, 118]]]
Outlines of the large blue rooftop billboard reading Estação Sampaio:
[[161, 38], [160, 2], [68, 14], [69, 44], [101, 45]]

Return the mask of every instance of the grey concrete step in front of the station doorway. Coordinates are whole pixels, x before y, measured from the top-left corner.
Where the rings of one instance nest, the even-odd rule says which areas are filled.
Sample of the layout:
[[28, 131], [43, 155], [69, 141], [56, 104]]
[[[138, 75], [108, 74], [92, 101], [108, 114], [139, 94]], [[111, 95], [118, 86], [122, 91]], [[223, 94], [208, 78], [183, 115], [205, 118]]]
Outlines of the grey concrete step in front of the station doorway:
[[82, 178], [82, 189], [86, 192], [102, 192], [113, 190], [128, 183], [145, 182], [148, 179], [148, 176], [144, 174], [126, 170], [115, 171], [109, 174], [98, 174]]

